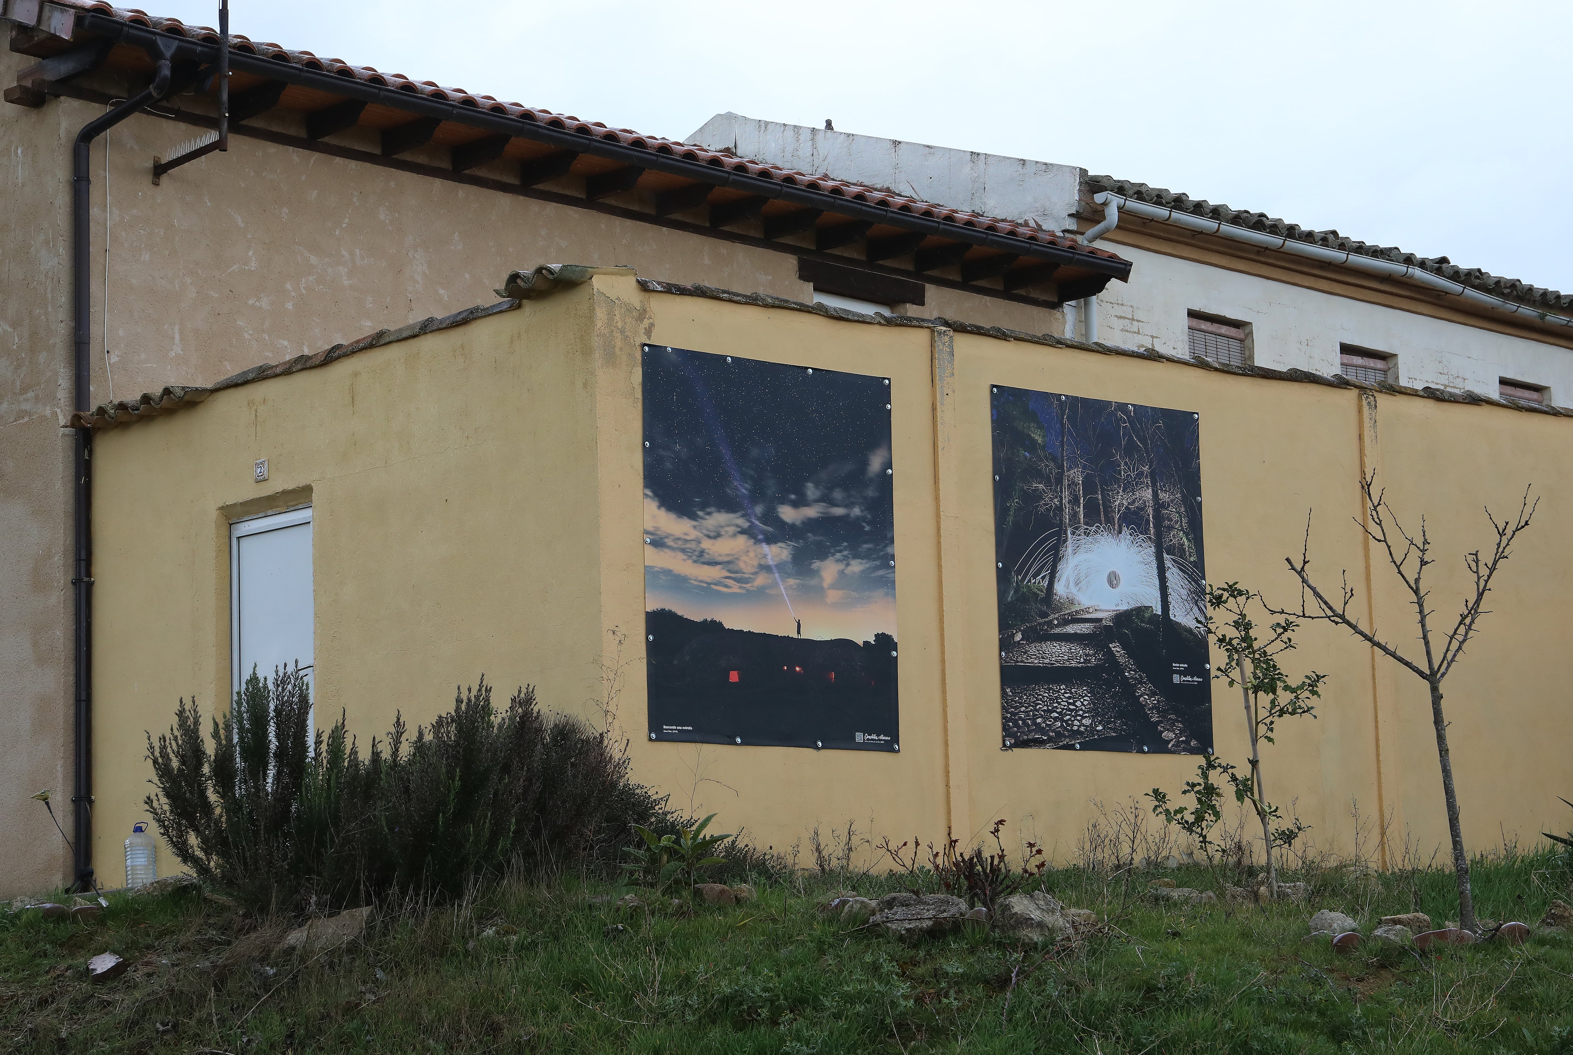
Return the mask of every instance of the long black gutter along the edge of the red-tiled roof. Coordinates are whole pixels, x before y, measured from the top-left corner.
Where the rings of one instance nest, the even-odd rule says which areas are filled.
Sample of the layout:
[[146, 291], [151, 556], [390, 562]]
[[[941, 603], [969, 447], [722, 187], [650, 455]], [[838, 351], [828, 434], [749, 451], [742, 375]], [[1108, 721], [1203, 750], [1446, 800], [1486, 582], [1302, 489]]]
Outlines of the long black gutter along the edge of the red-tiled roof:
[[[173, 57], [176, 60], [193, 60], [209, 64], [217, 63], [219, 60], [219, 44], [206, 44], [201, 41], [171, 36], [168, 33], [149, 30], [131, 22], [121, 22], [120, 19], [112, 19], [104, 14], [88, 14], [85, 19], [79, 20], [77, 25], [88, 35], [113, 38], [123, 44], [132, 44], [148, 50], [173, 44]], [[557, 129], [549, 124], [541, 124], [540, 121], [525, 121], [524, 118], [514, 118], [503, 113], [491, 113], [489, 110], [480, 110], [458, 102], [442, 102], [428, 96], [400, 91], [398, 88], [368, 85], [362, 80], [338, 77], [337, 74], [318, 69], [307, 69], [305, 66], [296, 66], [294, 63], [260, 58], [233, 49], [230, 50], [230, 68], [239, 72], [266, 77], [269, 80], [282, 80], [302, 88], [313, 88], [316, 91], [343, 96], [346, 99], [360, 99], [368, 104], [385, 105], [407, 113], [418, 113], [422, 116], [439, 118], [442, 121], [453, 121], [455, 124], [466, 124], [484, 132], [535, 140], [536, 143], [547, 143], [560, 149], [595, 154], [624, 165], [672, 173], [686, 179], [708, 182], [716, 187], [730, 187], [750, 195], [763, 195], [766, 198], [779, 198], [782, 201], [791, 201], [812, 209], [824, 209], [826, 212], [846, 215], [854, 220], [868, 220], [871, 223], [898, 226], [909, 231], [922, 231], [925, 234], [947, 237], [956, 242], [971, 242], [972, 245], [983, 248], [1018, 253], [1055, 264], [1068, 264], [1071, 267], [1084, 267], [1096, 274], [1111, 275], [1112, 278], [1118, 278], [1122, 281], [1126, 281], [1131, 274], [1131, 263], [1125, 259], [1096, 256], [1093, 253], [1063, 248], [1059, 245], [1046, 245], [1043, 242], [1033, 242], [1011, 234], [1000, 234], [997, 231], [980, 231], [961, 223], [947, 223], [945, 220], [934, 217], [901, 212], [898, 209], [870, 204], [867, 201], [853, 201], [851, 198], [842, 198], [823, 190], [794, 187], [774, 179], [766, 179], [763, 176], [750, 176], [749, 173], [730, 171], [705, 162], [689, 160], [675, 154], [662, 154], [640, 146], [629, 146], [626, 143]]]

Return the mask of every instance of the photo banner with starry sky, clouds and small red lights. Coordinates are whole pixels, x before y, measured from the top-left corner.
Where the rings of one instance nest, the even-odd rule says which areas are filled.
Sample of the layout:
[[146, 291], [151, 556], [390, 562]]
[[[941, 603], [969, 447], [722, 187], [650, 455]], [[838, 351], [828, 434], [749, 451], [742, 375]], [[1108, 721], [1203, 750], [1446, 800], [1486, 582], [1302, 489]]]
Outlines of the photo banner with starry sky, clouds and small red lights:
[[886, 377], [647, 344], [650, 739], [898, 752]]

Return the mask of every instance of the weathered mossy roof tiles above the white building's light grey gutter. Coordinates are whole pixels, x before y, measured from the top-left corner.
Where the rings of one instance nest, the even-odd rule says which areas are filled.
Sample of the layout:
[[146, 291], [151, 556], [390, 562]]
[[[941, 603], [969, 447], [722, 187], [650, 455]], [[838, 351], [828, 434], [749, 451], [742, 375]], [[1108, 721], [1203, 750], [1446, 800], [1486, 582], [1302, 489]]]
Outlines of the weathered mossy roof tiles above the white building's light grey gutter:
[[1087, 176], [1087, 182], [1100, 190], [1109, 190], [1147, 204], [1156, 204], [1164, 209], [1175, 209], [1178, 212], [1188, 212], [1208, 220], [1243, 226], [1251, 231], [1273, 234], [1274, 237], [1287, 237], [1296, 242], [1321, 245], [1323, 248], [1335, 248], [1340, 253], [1357, 253], [1359, 256], [1384, 259], [1394, 264], [1408, 264], [1411, 267], [1428, 270], [1433, 275], [1457, 281], [1458, 285], [1479, 289], [1480, 292], [1490, 292], [1529, 307], [1551, 310], [1573, 308], [1573, 294], [1546, 289], [1545, 286], [1535, 286], [1520, 278], [1493, 275], [1480, 267], [1460, 267], [1447, 256], [1419, 256], [1417, 253], [1405, 252], [1397, 245], [1376, 245], [1375, 242], [1362, 242], [1356, 237], [1346, 237], [1332, 228], [1326, 231], [1315, 231], [1302, 228], [1298, 223], [1288, 223], [1287, 220], [1271, 217], [1266, 212], [1251, 212], [1247, 209], [1235, 209], [1227, 204], [1213, 204], [1211, 201], [1191, 198], [1191, 195], [1178, 190], [1153, 187], [1144, 182], [1133, 182], [1129, 179], [1115, 179], [1114, 176]]

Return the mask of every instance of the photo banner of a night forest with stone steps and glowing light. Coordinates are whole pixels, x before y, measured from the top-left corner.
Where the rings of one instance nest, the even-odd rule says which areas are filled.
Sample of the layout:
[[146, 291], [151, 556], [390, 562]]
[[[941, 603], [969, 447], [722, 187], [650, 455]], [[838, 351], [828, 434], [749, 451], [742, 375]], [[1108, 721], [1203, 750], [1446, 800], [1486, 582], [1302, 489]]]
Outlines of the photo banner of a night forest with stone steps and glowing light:
[[1005, 385], [991, 406], [1004, 745], [1210, 752], [1200, 418]]

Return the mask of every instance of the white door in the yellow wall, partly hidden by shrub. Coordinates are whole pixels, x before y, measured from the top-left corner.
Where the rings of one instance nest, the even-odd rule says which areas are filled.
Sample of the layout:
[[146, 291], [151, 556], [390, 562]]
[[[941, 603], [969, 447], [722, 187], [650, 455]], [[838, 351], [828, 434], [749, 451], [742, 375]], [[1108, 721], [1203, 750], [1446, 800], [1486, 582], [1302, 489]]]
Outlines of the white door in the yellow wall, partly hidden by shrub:
[[311, 509], [291, 509], [230, 525], [230, 670], [239, 692], [252, 667], [311, 660]]

